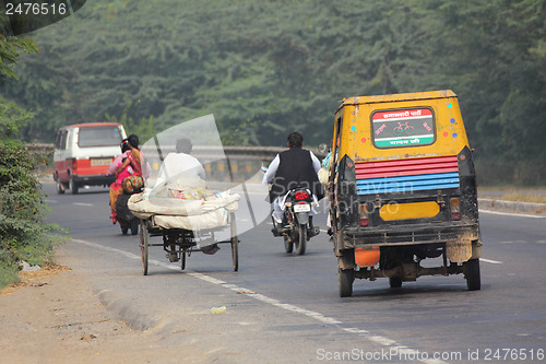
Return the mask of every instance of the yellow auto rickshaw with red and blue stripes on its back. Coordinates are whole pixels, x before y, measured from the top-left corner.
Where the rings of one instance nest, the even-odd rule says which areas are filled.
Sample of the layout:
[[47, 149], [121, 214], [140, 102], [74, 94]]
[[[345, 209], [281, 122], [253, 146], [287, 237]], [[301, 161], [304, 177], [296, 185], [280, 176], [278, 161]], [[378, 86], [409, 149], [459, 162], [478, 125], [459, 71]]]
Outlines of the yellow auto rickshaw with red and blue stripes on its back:
[[[476, 174], [452, 91], [351, 97], [335, 111], [328, 184], [340, 295], [355, 278], [463, 273], [480, 289]], [[437, 267], [420, 261], [438, 258]]]

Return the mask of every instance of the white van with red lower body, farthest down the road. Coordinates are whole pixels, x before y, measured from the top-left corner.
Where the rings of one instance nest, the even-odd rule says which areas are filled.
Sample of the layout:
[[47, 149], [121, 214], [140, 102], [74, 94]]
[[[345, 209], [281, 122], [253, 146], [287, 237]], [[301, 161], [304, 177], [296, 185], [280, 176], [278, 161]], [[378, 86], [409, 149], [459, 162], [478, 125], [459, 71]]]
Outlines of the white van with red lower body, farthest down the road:
[[57, 191], [67, 188], [75, 195], [82, 186], [108, 186], [114, 176], [106, 172], [121, 154], [127, 138], [123, 126], [116, 122], [78, 124], [62, 127], [55, 138], [54, 179]]

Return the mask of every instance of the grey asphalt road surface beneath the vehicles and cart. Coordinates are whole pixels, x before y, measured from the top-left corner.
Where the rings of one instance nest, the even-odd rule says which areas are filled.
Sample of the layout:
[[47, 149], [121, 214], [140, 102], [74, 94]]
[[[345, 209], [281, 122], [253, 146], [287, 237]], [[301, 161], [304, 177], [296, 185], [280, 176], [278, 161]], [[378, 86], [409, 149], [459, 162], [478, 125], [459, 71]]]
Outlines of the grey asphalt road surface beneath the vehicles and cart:
[[[466, 291], [462, 275], [423, 277], [402, 289], [356, 280], [353, 296], [341, 298], [324, 233], [305, 256], [286, 255], [268, 220], [249, 228], [241, 219], [248, 231], [239, 236], [238, 272], [227, 246], [193, 254], [185, 271], [151, 247], [144, 277], [139, 237], [109, 222], [106, 189], [72, 196], [54, 187], [44, 185], [49, 220], [70, 231], [63, 250], [71, 266], [91, 277], [109, 309], [162, 334], [174, 353], [191, 343], [203, 363], [544, 362], [545, 219], [480, 214], [480, 291]], [[218, 306], [225, 315], [211, 314]]]

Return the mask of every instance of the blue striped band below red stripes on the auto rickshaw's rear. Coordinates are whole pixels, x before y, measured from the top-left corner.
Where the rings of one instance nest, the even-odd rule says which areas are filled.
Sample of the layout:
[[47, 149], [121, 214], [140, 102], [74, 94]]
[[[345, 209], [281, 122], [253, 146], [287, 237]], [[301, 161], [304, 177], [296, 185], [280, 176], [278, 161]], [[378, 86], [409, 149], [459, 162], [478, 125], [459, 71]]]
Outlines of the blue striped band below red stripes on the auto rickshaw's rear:
[[444, 188], [459, 188], [459, 173], [369, 178], [356, 181], [358, 195], [412, 192]]

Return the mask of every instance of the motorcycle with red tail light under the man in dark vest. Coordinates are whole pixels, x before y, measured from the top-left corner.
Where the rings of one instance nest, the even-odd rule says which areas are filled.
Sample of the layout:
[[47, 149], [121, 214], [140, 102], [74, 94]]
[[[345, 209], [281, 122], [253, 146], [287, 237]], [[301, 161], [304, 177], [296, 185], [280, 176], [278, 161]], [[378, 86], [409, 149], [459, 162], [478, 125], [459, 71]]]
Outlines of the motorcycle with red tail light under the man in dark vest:
[[283, 236], [286, 253], [293, 253], [296, 245], [297, 255], [304, 255], [307, 242], [312, 236], [319, 235], [319, 227], [313, 227], [309, 213], [311, 208], [318, 206], [317, 199], [307, 188], [294, 188], [289, 190], [281, 202], [283, 210], [283, 222], [277, 224], [273, 219], [273, 235]]

